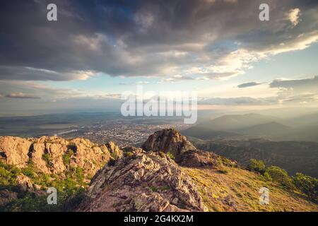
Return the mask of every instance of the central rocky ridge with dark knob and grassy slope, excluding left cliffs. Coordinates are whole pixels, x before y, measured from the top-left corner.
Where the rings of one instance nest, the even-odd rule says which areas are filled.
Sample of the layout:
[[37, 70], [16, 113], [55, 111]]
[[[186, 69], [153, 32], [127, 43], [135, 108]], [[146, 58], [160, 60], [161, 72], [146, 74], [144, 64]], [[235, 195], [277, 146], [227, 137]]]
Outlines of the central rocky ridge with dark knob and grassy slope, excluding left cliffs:
[[[19, 145], [13, 147], [16, 151], [20, 150]], [[94, 145], [90, 148], [90, 151], [98, 149]], [[93, 178], [90, 178], [90, 184], [83, 186], [85, 190], [81, 198], [76, 194], [69, 195], [63, 203], [63, 209], [317, 211], [317, 204], [304, 195], [295, 194], [274, 182], [266, 181], [261, 175], [243, 169], [235, 161], [197, 149], [175, 129], [153, 133], [143, 144], [143, 148], [126, 147], [117, 151], [119, 155], [115, 157], [115, 152], [110, 153], [110, 159], [104, 167], [101, 166]], [[3, 148], [1, 153], [4, 153]], [[1, 156], [0, 162], [3, 162], [4, 155]], [[11, 168], [6, 166], [4, 169]], [[30, 179], [34, 182], [33, 177]], [[259, 204], [259, 189], [263, 186], [271, 191], [271, 203], [265, 206]], [[38, 189], [42, 194], [37, 191], [35, 199], [45, 196], [43, 190]], [[1, 199], [6, 201], [4, 210], [23, 210], [21, 203], [25, 200], [19, 201], [19, 198], [10, 192], [8, 187], [1, 189], [0, 204]], [[25, 196], [29, 197], [28, 194]], [[30, 201], [30, 198], [27, 201]]]

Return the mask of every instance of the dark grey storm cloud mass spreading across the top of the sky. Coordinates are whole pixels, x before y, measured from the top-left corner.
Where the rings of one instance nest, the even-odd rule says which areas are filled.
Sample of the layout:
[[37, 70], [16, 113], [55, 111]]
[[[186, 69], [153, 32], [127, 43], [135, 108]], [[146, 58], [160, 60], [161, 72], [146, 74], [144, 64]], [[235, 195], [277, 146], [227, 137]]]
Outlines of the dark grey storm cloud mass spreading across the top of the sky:
[[[46, 19], [49, 3], [57, 4], [57, 22]], [[269, 23], [258, 19], [260, 3], [271, 7]], [[264, 52], [301, 49], [298, 43], [318, 37], [317, 1], [13, 0], [0, 8], [2, 80], [66, 81], [100, 72], [227, 77], [242, 74]], [[295, 28], [285, 15], [292, 8], [302, 13]], [[229, 60], [235, 42], [249, 52]], [[229, 61], [244, 64], [228, 69]]]

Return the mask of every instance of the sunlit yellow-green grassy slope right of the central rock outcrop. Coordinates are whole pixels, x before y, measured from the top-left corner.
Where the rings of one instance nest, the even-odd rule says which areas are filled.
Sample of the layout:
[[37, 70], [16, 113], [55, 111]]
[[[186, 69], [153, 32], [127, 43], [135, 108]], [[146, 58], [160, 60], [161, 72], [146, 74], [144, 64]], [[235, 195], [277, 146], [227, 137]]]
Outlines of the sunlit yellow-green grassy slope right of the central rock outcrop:
[[[225, 167], [227, 174], [217, 169], [182, 168], [199, 186], [199, 191], [209, 211], [234, 211], [223, 203], [232, 196], [237, 211], [318, 211], [318, 206], [301, 194], [285, 191], [283, 187], [266, 182], [258, 174], [245, 169]], [[259, 189], [266, 186], [270, 193], [268, 206], [259, 204]]]

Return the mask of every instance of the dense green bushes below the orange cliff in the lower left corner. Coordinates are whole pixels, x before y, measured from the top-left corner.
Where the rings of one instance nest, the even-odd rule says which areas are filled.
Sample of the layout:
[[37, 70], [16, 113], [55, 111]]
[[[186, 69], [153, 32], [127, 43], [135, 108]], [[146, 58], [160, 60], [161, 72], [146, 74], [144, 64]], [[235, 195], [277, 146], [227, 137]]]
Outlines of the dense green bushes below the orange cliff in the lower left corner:
[[[19, 174], [29, 177], [33, 184], [42, 189], [40, 191], [21, 191], [16, 178]], [[65, 175], [45, 174], [35, 172], [33, 163], [28, 167], [19, 169], [0, 161], [0, 189], [17, 192], [18, 198], [0, 206], [0, 211], [61, 211], [66, 203], [78, 203], [83, 197], [83, 191], [88, 184], [85, 182], [83, 169], [70, 167]], [[46, 188], [54, 187], [58, 191], [57, 205], [47, 204]], [[70, 198], [71, 197], [71, 198]]]

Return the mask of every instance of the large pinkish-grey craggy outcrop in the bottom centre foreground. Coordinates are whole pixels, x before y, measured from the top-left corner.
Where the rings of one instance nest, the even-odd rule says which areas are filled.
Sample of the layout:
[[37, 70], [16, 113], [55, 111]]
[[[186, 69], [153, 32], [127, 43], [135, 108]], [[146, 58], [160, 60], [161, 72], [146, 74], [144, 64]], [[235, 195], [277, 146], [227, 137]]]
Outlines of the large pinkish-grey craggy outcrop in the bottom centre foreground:
[[196, 185], [164, 153], [137, 150], [93, 177], [78, 211], [204, 211]]

